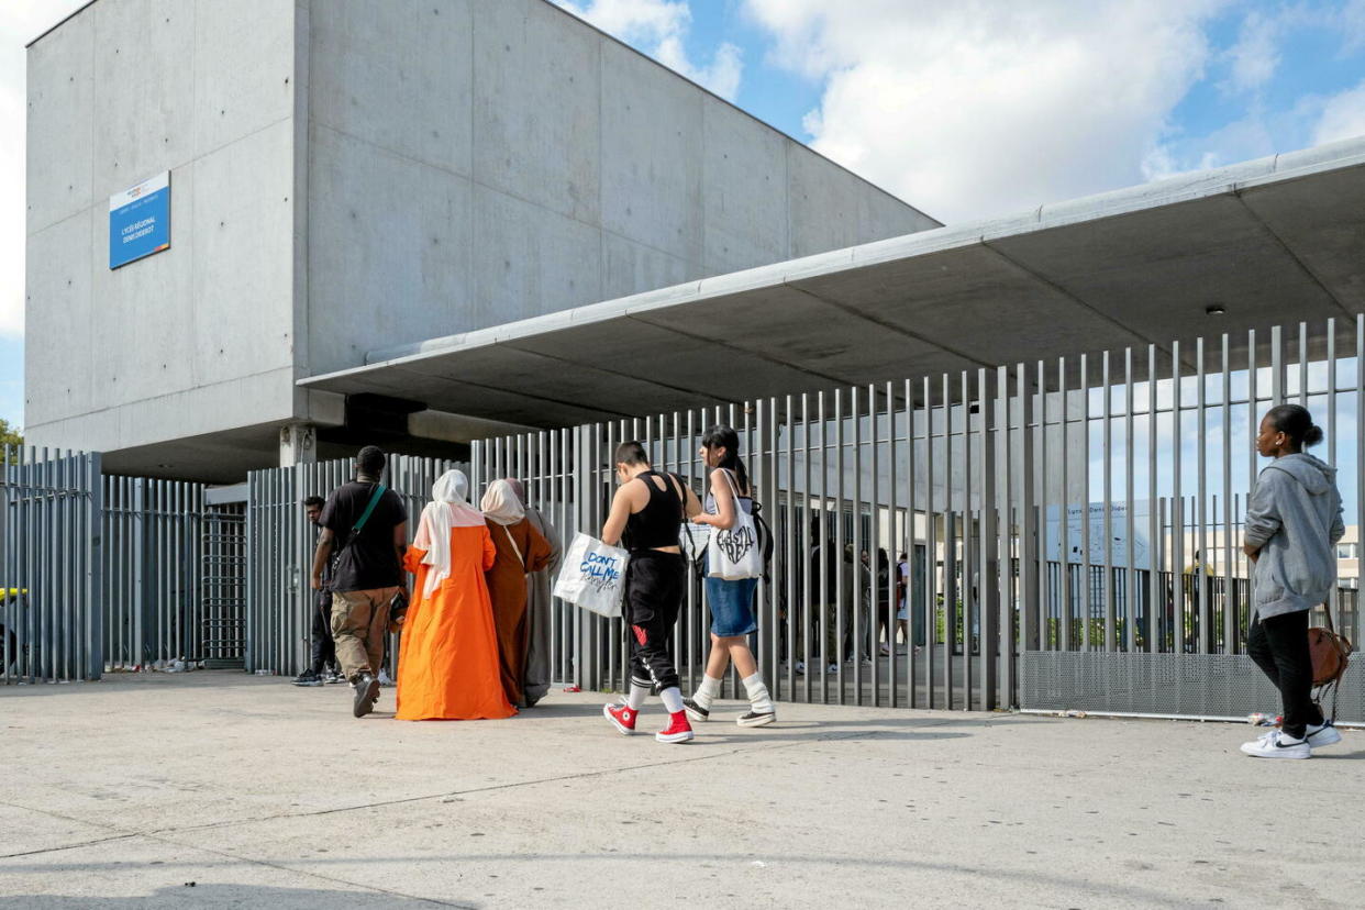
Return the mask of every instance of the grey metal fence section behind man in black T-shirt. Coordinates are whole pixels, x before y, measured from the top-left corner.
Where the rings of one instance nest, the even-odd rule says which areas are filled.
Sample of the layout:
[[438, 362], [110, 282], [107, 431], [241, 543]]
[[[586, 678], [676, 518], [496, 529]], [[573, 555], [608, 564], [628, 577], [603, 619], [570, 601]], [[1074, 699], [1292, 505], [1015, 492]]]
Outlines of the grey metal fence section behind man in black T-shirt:
[[[384, 483], [408, 509], [408, 539], [445, 471], [465, 465], [438, 458], [390, 456]], [[310, 583], [318, 529], [303, 513], [303, 501], [324, 499], [355, 476], [351, 460], [321, 461], [247, 475], [246, 506], [246, 648], [248, 671], [292, 675], [308, 666], [314, 591]], [[392, 674], [397, 639], [390, 636], [385, 663]]]

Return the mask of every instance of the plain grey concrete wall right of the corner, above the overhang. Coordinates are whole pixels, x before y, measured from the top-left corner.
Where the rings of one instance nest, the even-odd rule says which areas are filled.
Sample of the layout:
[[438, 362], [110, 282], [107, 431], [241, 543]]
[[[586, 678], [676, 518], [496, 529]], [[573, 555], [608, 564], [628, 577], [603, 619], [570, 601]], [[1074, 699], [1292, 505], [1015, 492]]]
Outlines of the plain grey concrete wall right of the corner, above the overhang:
[[935, 226], [545, 0], [308, 29], [308, 374]]

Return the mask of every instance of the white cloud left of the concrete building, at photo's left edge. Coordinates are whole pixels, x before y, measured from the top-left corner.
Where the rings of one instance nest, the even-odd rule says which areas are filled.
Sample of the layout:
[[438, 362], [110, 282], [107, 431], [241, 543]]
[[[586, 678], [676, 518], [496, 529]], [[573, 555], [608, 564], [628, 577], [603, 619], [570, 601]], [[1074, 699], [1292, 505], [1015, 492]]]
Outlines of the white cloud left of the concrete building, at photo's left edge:
[[0, 4], [0, 336], [23, 334], [25, 281], [25, 42], [83, 0], [4, 0]]

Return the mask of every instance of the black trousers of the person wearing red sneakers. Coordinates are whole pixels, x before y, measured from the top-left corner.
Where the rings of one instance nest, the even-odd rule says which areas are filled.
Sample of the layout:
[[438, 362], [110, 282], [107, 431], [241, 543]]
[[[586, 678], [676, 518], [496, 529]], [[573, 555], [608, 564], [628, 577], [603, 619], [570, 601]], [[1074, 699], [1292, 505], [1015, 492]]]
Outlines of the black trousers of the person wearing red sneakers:
[[687, 565], [677, 553], [639, 550], [625, 565], [624, 618], [631, 643], [631, 682], [657, 690], [677, 688], [669, 636], [682, 603]]

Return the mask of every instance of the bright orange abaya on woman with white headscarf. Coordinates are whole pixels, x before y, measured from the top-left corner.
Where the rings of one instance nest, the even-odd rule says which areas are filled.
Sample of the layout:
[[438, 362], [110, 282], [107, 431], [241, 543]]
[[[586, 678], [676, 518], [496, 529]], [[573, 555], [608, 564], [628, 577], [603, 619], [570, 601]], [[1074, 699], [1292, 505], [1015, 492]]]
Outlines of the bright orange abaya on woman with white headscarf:
[[[450, 528], [450, 576], [423, 598], [430, 566], [408, 547], [403, 565], [416, 573], [412, 606], [399, 645], [399, 720], [511, 718], [504, 697], [498, 640], [483, 572], [497, 551], [483, 525]], [[524, 584], [523, 584], [524, 587]]]

